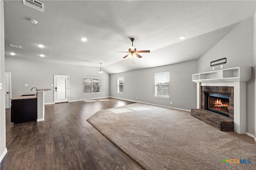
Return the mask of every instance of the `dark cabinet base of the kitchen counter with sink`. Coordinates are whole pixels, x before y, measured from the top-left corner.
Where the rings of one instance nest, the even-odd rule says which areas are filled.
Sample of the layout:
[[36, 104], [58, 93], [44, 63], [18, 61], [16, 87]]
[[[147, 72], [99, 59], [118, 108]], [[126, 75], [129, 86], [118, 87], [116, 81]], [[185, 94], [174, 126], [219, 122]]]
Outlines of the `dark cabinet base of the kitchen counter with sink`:
[[36, 121], [37, 98], [12, 100], [11, 122], [14, 124]]

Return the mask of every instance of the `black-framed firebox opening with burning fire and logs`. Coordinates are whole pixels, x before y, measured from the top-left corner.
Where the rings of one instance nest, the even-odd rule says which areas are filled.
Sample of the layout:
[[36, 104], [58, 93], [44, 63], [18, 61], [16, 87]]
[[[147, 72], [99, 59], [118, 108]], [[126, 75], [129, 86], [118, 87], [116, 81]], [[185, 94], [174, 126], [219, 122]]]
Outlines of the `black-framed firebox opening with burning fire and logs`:
[[229, 96], [222, 94], [208, 94], [207, 109], [229, 117]]

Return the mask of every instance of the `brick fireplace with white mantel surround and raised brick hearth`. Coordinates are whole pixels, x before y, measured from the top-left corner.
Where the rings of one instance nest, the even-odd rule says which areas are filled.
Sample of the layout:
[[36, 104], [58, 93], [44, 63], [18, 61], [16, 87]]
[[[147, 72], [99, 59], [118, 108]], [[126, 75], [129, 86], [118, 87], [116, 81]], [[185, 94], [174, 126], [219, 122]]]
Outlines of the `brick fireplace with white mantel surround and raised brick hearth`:
[[[191, 115], [222, 131], [246, 133], [246, 82], [251, 78], [251, 67], [193, 74], [192, 81], [197, 84], [197, 106], [191, 109]], [[228, 107], [226, 116], [207, 110], [208, 95], [212, 93], [228, 96], [229, 105], [223, 106]]]

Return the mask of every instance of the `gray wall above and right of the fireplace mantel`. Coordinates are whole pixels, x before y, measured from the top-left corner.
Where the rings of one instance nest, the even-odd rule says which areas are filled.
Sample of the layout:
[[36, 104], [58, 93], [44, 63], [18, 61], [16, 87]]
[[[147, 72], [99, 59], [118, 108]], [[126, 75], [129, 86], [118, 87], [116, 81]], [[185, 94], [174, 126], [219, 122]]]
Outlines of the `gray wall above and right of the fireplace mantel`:
[[[252, 66], [252, 79], [247, 82], [246, 88], [246, 131], [255, 134], [255, 76], [254, 76], [254, 17], [242, 21], [220, 42], [198, 60], [198, 72], [212, 71], [210, 62], [226, 57], [227, 63], [223, 68], [238, 66]], [[215, 66], [219, 70], [220, 65]]]

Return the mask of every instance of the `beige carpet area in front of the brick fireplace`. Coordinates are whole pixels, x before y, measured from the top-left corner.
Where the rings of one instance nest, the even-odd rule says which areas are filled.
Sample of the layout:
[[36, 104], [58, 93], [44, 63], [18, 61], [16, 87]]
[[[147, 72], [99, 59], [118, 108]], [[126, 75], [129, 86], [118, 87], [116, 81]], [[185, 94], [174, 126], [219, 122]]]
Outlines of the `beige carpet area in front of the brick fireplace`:
[[[248, 135], [219, 131], [186, 111], [140, 103], [113, 109], [87, 121], [146, 170], [256, 169], [256, 143]], [[223, 158], [250, 164], [225, 165]]]

